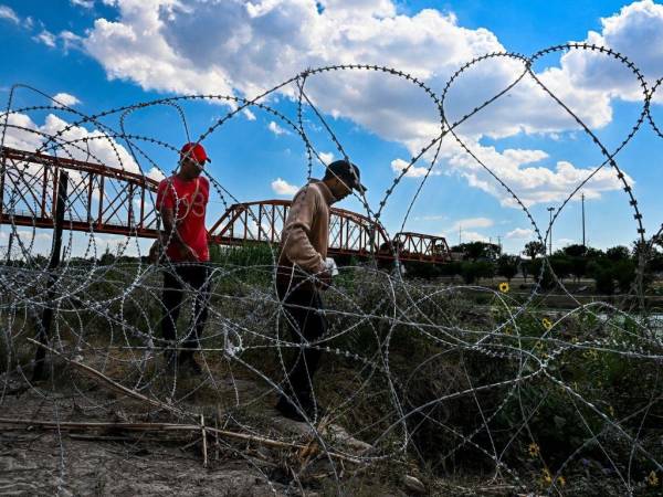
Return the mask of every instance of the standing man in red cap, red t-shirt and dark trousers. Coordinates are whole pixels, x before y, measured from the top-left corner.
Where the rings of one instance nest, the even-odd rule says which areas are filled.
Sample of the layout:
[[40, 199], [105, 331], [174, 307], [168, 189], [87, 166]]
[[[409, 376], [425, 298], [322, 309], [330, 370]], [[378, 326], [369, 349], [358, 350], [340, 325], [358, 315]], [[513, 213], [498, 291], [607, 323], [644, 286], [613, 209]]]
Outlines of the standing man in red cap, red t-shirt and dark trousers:
[[171, 264], [164, 274], [161, 303], [165, 315], [161, 334], [166, 340], [176, 341], [177, 318], [185, 285], [196, 292], [192, 326], [182, 341], [185, 349], [179, 355], [166, 350], [170, 367], [186, 367], [196, 373], [202, 372], [193, 358], [199, 346], [208, 315], [210, 253], [204, 226], [204, 214], [209, 200], [210, 183], [200, 176], [206, 162], [210, 161], [200, 144], [186, 144], [180, 150], [179, 170], [159, 183], [157, 209], [164, 221], [161, 245], [166, 248], [165, 260]]

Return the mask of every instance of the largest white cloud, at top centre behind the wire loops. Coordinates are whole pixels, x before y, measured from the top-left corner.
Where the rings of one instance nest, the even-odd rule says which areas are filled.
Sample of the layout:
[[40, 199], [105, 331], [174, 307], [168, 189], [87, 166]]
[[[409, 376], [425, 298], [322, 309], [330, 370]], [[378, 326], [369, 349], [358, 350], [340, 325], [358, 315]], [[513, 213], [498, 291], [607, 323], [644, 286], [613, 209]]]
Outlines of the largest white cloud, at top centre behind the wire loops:
[[[307, 66], [357, 62], [398, 67], [441, 88], [472, 57], [504, 50], [486, 29], [460, 27], [453, 14], [434, 9], [397, 14], [390, 0], [327, 0], [322, 13], [311, 0], [114, 3], [117, 20], [95, 21], [84, 40], [87, 51], [109, 77], [176, 93], [236, 89], [251, 96]], [[614, 31], [604, 25], [607, 32]], [[604, 126], [612, 118], [610, 95], [571, 84], [565, 61], [561, 68], [544, 71], [541, 78], [590, 126]], [[505, 59], [473, 66], [450, 89], [449, 116], [455, 119], [472, 110], [523, 71], [519, 62]], [[283, 88], [291, 95], [293, 91]], [[430, 139], [439, 130], [436, 109], [423, 92], [383, 74], [315, 75], [307, 94], [324, 112], [350, 117], [387, 139]], [[470, 119], [463, 133], [508, 136], [577, 128], [529, 78], [502, 102], [507, 103], [498, 101]]]

